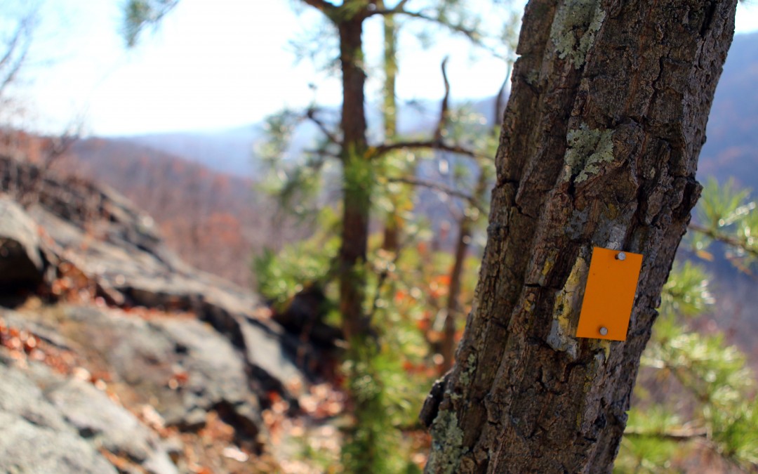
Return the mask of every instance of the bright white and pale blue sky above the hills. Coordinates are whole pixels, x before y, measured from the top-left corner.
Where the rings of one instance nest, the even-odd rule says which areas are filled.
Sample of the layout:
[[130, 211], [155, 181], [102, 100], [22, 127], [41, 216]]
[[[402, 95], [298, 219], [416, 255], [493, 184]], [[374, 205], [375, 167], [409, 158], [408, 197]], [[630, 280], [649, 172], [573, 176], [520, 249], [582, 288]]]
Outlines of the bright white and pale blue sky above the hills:
[[[33, 2], [0, 0], [0, 11]], [[30, 127], [49, 133], [75, 127], [99, 136], [221, 130], [284, 107], [339, 103], [335, 74], [307, 59], [296, 62], [293, 39], [311, 38], [304, 44], [328, 51], [318, 13], [293, 8], [296, 0], [182, 0], [135, 49], [120, 34], [123, 2], [36, 1], [35, 42], [19, 92], [30, 104]], [[758, 30], [758, 0], [740, 2], [736, 30]], [[307, 36], [314, 31], [315, 38]], [[369, 58], [377, 57], [377, 21], [364, 36]], [[445, 55], [454, 99], [496, 93], [507, 71], [503, 61], [472, 51], [465, 39], [434, 38], [431, 48], [410, 35], [402, 39], [401, 99], [440, 99]], [[369, 93], [378, 87], [371, 80]]]

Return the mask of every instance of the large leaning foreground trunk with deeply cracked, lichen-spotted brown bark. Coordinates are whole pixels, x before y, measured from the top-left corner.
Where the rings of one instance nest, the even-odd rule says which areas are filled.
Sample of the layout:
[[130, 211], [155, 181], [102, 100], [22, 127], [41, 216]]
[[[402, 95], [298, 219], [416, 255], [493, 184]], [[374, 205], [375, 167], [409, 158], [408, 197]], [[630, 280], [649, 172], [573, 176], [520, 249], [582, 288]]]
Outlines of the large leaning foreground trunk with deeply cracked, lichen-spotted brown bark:
[[[736, 0], [532, 0], [457, 362], [427, 472], [610, 472], [700, 195]], [[573, 337], [593, 246], [642, 253], [628, 339]]]

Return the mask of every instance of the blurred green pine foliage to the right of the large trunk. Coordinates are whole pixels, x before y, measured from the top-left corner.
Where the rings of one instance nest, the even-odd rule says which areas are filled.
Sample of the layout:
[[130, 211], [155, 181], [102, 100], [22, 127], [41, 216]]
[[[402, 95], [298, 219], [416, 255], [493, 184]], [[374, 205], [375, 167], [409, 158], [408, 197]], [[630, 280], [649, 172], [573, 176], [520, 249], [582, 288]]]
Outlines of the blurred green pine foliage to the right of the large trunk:
[[[706, 185], [697, 209], [700, 234], [690, 240], [697, 255], [713, 240], [731, 251], [750, 252], [754, 206], [749, 193], [730, 181]], [[719, 332], [701, 334], [690, 324], [713, 304], [703, 268], [675, 265], [663, 287], [659, 321], [641, 360], [618, 472], [670, 472], [688, 453], [710, 450], [727, 463], [758, 468], [758, 409], [755, 375], [738, 347]], [[666, 384], [666, 388], [661, 388]]]

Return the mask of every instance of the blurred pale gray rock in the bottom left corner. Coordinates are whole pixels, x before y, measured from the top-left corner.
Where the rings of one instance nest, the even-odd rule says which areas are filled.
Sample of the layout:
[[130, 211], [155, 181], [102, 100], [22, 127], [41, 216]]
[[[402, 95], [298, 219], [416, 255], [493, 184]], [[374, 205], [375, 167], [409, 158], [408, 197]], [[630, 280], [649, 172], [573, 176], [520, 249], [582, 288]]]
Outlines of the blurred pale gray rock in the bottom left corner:
[[[107, 463], [97, 453], [101, 447], [128, 457], [153, 474], [177, 472], [158, 436], [89, 383], [64, 378], [38, 363], [31, 363], [27, 369], [0, 363], [0, 380], [3, 381], [0, 416], [14, 419], [8, 426], [0, 425], [0, 453], [5, 449], [7, 457], [5, 465], [0, 460], [0, 472], [13, 472], [13, 469], [17, 472], [111, 472], [100, 470], [102, 462]], [[48, 444], [45, 449], [58, 459], [56, 462], [70, 470], [48, 470], [34, 455], [24, 454], [10, 443], [4, 444], [6, 435], [11, 440], [19, 436], [21, 441], [28, 435], [29, 442], [39, 437]], [[67, 458], [69, 448], [78, 453], [78, 464]], [[96, 455], [88, 454], [89, 450], [94, 450]]]

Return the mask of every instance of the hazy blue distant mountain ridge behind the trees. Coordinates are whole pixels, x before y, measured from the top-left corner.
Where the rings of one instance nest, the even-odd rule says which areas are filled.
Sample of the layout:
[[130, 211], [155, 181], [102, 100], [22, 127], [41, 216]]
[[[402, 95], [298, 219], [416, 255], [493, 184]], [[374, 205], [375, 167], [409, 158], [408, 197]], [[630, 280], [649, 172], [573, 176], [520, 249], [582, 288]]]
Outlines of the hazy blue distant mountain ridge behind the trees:
[[[758, 33], [735, 36], [724, 66], [707, 128], [708, 140], [700, 154], [698, 177], [725, 180], [734, 176], [738, 184], [758, 190]], [[491, 119], [491, 100], [474, 102], [472, 108]], [[438, 105], [412, 102], [400, 111], [402, 133], [431, 133]], [[380, 118], [372, 111], [369, 123], [377, 130]], [[214, 171], [241, 177], [260, 178], [255, 146], [263, 139], [265, 127], [250, 124], [228, 130], [156, 133], [118, 137], [150, 146], [161, 152], [202, 163]], [[297, 148], [309, 146], [308, 137], [317, 137], [315, 127], [299, 133]]]

